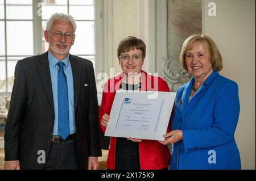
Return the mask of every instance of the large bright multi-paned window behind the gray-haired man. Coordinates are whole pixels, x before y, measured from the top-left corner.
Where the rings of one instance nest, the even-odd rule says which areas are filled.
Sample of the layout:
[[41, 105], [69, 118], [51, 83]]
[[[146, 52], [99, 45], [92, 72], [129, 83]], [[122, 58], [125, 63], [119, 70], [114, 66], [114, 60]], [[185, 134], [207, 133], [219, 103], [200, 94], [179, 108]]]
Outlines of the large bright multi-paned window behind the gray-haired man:
[[[71, 54], [93, 62], [97, 57], [97, 33], [102, 34], [102, 0], [0, 0], [0, 94], [13, 89], [16, 62], [48, 50], [44, 40], [47, 19], [55, 12], [76, 19], [76, 40]], [[97, 20], [97, 23], [96, 23]], [[97, 26], [97, 31], [96, 31]], [[101, 37], [101, 36], [100, 36]], [[101, 41], [102, 42], [102, 41]], [[100, 45], [101, 46], [101, 45]]]

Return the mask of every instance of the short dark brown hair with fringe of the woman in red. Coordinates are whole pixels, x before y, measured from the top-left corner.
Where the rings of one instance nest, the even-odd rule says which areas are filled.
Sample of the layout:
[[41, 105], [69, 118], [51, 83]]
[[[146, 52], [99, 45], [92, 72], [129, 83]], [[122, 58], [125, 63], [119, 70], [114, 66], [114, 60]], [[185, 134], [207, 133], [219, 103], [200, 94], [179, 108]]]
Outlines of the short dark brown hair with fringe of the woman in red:
[[139, 49], [142, 50], [142, 57], [143, 59], [146, 56], [146, 45], [144, 41], [141, 39], [137, 39], [134, 36], [128, 36], [122, 41], [120, 41], [118, 48], [117, 48], [117, 57], [121, 55], [121, 53], [129, 52], [130, 50]]

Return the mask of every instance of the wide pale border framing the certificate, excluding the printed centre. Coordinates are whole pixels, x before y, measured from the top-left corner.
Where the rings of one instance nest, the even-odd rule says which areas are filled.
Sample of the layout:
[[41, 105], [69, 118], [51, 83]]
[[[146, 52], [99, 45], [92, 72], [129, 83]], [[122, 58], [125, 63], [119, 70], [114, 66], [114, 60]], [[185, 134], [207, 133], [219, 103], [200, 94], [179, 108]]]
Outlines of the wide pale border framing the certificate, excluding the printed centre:
[[[118, 90], [115, 94], [114, 102], [110, 112], [110, 120], [106, 127], [105, 136], [112, 137], [133, 137], [144, 140], [164, 140], [163, 134], [166, 134], [168, 123], [174, 106], [176, 92], [159, 92], [159, 91], [123, 91]], [[123, 98], [135, 99], [160, 99], [162, 105], [157, 120], [157, 126], [154, 131], [135, 131], [116, 129], [119, 112]]]

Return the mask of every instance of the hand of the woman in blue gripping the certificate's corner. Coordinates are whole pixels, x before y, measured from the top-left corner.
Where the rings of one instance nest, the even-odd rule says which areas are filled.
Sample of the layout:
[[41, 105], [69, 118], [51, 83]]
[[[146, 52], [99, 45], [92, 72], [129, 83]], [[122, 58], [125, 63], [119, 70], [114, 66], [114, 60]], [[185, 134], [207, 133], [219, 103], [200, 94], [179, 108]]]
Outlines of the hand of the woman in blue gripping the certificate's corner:
[[164, 141], [159, 141], [163, 145], [175, 144], [176, 142], [183, 140], [183, 133], [181, 130], [174, 130], [164, 134]]

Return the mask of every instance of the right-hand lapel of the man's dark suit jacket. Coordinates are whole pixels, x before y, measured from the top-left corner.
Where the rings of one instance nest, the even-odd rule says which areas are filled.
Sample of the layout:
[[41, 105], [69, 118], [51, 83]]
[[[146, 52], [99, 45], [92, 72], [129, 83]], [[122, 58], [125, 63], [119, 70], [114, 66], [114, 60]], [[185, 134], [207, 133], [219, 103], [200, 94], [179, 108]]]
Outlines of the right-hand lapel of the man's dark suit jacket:
[[76, 111], [77, 103], [79, 100], [79, 94], [80, 94], [80, 86], [81, 86], [80, 80], [81, 80], [82, 69], [81, 69], [81, 66], [78, 64], [77, 60], [71, 54], [69, 54], [69, 60], [71, 63], [72, 74], [73, 74], [75, 111]]

